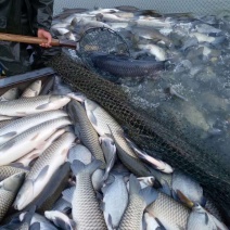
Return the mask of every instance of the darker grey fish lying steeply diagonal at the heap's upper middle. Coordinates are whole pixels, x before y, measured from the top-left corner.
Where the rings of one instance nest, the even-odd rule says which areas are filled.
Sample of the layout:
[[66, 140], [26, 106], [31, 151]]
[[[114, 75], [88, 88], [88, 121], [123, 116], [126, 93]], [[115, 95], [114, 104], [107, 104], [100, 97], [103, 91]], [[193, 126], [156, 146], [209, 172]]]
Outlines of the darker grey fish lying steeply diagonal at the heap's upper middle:
[[[84, 110], [82, 105], [77, 101], [72, 101], [67, 105], [67, 110], [75, 126], [77, 126], [79, 139], [82, 141], [84, 145], [89, 149], [92, 155], [103, 163], [102, 168], [104, 168], [104, 154], [99, 143], [98, 133], [95, 132], [89, 118], [87, 117], [86, 111]], [[79, 123], [79, 125], [77, 125], [77, 122]]]

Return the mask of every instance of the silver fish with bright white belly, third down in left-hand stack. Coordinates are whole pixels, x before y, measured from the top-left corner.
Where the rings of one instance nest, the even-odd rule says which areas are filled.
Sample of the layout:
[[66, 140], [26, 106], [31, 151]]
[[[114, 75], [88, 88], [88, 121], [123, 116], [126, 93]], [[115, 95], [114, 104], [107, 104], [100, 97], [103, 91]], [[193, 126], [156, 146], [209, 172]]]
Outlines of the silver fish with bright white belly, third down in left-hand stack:
[[[59, 128], [68, 126], [67, 118], [51, 119], [35, 126], [0, 145], [0, 166], [8, 165], [34, 149], [39, 149]], [[25, 144], [26, 143], [26, 144]]]

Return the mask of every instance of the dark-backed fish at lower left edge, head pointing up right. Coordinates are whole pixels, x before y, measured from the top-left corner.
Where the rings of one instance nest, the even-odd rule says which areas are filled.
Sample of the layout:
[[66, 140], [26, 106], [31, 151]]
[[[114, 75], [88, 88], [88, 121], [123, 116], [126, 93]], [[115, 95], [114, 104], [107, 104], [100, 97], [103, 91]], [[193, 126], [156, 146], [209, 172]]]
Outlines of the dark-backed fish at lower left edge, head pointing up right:
[[24, 178], [25, 173], [18, 173], [0, 182], [0, 221], [12, 205]]

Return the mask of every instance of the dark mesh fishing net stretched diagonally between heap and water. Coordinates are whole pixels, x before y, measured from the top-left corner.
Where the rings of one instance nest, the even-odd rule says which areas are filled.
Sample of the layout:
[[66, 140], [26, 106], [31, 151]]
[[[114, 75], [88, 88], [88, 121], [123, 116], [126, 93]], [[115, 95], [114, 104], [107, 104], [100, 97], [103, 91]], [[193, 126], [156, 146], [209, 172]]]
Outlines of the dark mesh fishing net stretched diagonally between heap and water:
[[196, 179], [228, 215], [226, 219], [230, 219], [229, 156], [220, 155], [215, 145], [205, 144], [195, 131], [178, 124], [164, 107], [150, 112], [137, 106], [120, 86], [76, 64], [66, 54], [53, 58], [48, 65], [66, 84], [110, 112], [149, 154], [157, 154], [173, 167]]

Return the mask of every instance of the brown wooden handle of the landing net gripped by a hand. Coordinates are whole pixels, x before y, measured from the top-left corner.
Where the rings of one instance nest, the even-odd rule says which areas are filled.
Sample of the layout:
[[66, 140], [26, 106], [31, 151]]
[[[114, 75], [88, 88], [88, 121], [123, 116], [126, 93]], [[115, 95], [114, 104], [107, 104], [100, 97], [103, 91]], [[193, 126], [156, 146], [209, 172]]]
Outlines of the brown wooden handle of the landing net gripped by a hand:
[[[1, 34], [0, 33], [0, 40], [3, 41], [16, 41], [22, 43], [47, 43], [47, 39], [30, 37], [30, 36], [23, 36], [23, 35], [12, 35], [12, 34]], [[60, 47], [60, 41], [58, 39], [52, 39], [51, 46]]]

